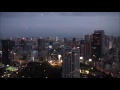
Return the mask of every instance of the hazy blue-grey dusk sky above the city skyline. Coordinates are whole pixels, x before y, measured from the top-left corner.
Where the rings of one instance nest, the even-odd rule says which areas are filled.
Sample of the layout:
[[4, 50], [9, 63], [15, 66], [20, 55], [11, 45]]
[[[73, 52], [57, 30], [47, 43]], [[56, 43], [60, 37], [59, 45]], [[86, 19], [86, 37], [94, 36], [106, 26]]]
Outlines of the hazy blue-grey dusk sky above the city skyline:
[[120, 12], [0, 12], [0, 34], [7, 37], [80, 37], [94, 30], [120, 35]]

